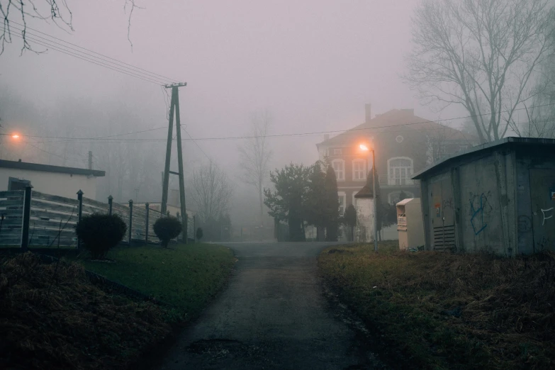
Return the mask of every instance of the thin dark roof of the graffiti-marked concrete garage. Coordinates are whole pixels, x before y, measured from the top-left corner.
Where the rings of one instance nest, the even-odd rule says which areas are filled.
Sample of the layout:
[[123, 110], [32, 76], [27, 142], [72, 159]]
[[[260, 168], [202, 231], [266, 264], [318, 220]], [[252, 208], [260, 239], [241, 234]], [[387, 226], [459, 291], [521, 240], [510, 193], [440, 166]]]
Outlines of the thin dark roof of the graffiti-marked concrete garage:
[[422, 169], [422, 171], [417, 172], [414, 174], [413, 179], [418, 180], [422, 179], [425, 174], [431, 172], [434, 169], [439, 169], [440, 167], [446, 167], [447, 164], [451, 164], [456, 159], [461, 157], [466, 157], [471, 155], [471, 153], [481, 152], [490, 150], [492, 148], [497, 148], [501, 146], [508, 146], [508, 145], [550, 145], [552, 147], [551, 152], [555, 152], [555, 139], [537, 139], [537, 138], [505, 138], [502, 140], [496, 140], [492, 142], [486, 142], [486, 144], [476, 145], [471, 147], [467, 150], [463, 150], [461, 152], [456, 152], [453, 155], [444, 157], [441, 161], [437, 162], [436, 164], [432, 164], [430, 167], [426, 167]]

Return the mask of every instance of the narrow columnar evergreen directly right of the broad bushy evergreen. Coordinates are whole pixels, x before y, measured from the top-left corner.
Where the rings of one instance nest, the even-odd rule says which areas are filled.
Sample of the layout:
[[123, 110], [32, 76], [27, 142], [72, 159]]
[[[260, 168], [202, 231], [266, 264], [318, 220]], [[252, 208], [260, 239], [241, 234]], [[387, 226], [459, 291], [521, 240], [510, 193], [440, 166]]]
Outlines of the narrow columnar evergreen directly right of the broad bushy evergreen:
[[316, 162], [310, 168], [308, 176], [308, 194], [305, 202], [305, 220], [309, 225], [314, 225], [317, 230], [316, 239], [322, 242], [325, 238], [327, 224], [327, 207], [325, 204], [325, 173], [322, 171], [321, 162]]

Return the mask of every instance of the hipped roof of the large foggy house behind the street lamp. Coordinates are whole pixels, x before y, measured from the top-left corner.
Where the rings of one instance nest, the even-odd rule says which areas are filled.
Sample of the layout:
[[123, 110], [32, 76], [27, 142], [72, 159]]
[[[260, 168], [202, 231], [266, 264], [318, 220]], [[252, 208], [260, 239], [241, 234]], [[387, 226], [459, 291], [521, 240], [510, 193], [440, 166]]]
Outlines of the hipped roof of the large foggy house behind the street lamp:
[[461, 140], [461, 141], [477, 141], [472, 135], [462, 133], [454, 128], [449, 128], [449, 126], [441, 125], [432, 120], [427, 120], [425, 118], [415, 116], [413, 109], [392, 109], [386, 113], [376, 115], [368, 122], [361, 123], [354, 128], [344, 131], [339, 135], [334, 136], [328, 140], [318, 143], [316, 146], [320, 145], [340, 145], [348, 140], [352, 140], [359, 135], [367, 135], [369, 133], [386, 133], [389, 131], [396, 130], [446, 130], [445, 136], [449, 140]]

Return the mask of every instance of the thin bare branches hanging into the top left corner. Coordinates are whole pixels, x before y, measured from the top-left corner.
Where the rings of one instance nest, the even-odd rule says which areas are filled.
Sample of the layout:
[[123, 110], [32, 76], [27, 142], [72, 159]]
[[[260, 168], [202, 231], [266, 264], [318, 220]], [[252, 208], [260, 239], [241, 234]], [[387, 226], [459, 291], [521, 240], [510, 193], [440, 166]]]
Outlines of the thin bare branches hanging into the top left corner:
[[[131, 16], [135, 8], [140, 8], [135, 4], [135, 0], [121, 0], [123, 9], [128, 13], [128, 40], [130, 40]], [[33, 52], [43, 52], [33, 49], [33, 43], [44, 44], [44, 38], [40, 33], [28, 27], [30, 20], [52, 21], [56, 26], [63, 30], [73, 31], [72, 11], [69, 9], [67, 0], [0, 0], [0, 15], [3, 25], [0, 30], [0, 55], [4, 52], [6, 43], [13, 43], [13, 38], [21, 40], [21, 52], [30, 50]], [[31, 32], [29, 32], [31, 30]]]

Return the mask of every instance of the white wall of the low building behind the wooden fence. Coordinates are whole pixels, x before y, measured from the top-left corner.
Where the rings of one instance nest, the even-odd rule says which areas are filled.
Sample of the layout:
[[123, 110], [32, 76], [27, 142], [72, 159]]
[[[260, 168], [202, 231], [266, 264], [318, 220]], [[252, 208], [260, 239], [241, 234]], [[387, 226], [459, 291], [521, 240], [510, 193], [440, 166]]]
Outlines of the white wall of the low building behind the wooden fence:
[[0, 168], [0, 191], [8, 190], [10, 177], [29, 180], [33, 185], [33, 190], [41, 193], [77, 198], [77, 191], [81, 189], [84, 197], [96, 198], [96, 177], [94, 176], [88, 179], [86, 175], [80, 174]]

